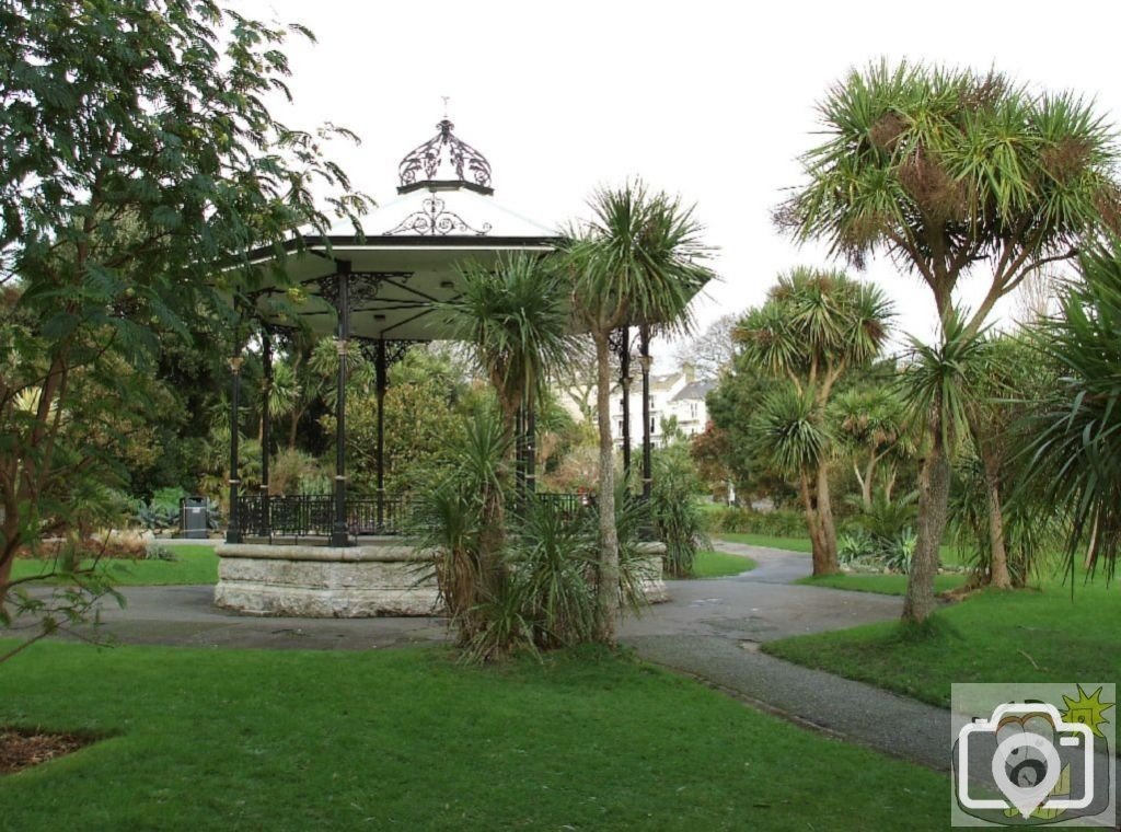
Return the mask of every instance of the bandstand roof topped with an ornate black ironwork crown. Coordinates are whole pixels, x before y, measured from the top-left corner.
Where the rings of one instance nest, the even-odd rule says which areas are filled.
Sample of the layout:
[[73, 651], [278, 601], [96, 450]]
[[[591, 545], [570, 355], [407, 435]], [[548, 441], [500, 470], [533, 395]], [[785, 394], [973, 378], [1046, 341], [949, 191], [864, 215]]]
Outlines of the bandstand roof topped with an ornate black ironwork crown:
[[[506, 252], [553, 251], [558, 238], [547, 227], [494, 200], [490, 164], [461, 141], [447, 119], [433, 138], [408, 154], [398, 168], [398, 196], [363, 218], [364, 239], [352, 225], [327, 239], [293, 239], [275, 276], [275, 258], [259, 253], [261, 292], [256, 314], [268, 323], [313, 332], [335, 332], [337, 275], [349, 264], [352, 336], [401, 341], [447, 338], [434, 304], [458, 293], [458, 265], [493, 265]], [[330, 242], [330, 246], [328, 246]], [[278, 303], [279, 302], [279, 303]]]

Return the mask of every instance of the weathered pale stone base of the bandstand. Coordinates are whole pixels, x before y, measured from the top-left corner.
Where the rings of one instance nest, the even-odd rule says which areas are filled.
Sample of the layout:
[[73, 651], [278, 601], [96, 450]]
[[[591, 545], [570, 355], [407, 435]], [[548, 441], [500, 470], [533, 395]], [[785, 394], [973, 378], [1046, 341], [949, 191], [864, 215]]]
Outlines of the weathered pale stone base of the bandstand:
[[[649, 603], [669, 600], [660, 543], [640, 544], [640, 586]], [[432, 556], [400, 538], [332, 547], [223, 544], [214, 603], [247, 616], [377, 618], [439, 616]]]

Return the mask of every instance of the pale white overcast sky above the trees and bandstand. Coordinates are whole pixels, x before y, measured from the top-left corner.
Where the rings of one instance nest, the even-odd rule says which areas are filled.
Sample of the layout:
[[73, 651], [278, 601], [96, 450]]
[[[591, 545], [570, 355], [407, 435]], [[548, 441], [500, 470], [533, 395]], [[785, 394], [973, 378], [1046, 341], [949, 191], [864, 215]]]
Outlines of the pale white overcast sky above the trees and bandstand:
[[[696, 203], [720, 248], [704, 324], [758, 304], [775, 276], [831, 265], [778, 234], [770, 212], [799, 182], [815, 103], [887, 57], [988, 70], [1093, 98], [1121, 121], [1117, 2], [941, 0], [760, 6], [689, 0], [564, 3], [251, 0], [253, 17], [303, 22], [293, 41], [291, 126], [331, 120], [362, 137], [335, 148], [355, 185], [396, 195], [397, 163], [435, 135], [451, 98], [456, 133], [491, 161], [495, 198], [549, 227], [584, 213], [601, 184], [641, 175]], [[890, 262], [860, 275], [895, 298], [901, 331], [928, 338], [933, 301]], [[982, 280], [974, 278], [971, 284]], [[966, 292], [969, 303], [974, 293]]]

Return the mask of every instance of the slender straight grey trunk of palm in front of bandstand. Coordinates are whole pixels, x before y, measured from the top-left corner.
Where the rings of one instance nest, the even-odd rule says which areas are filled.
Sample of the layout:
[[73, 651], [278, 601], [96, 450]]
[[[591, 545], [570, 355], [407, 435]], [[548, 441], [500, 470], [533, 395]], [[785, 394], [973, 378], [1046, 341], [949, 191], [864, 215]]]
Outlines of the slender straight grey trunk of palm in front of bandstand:
[[619, 620], [619, 529], [615, 527], [614, 442], [611, 438], [611, 350], [608, 333], [595, 334], [595, 404], [600, 427], [600, 564], [595, 609], [597, 640], [613, 645]]

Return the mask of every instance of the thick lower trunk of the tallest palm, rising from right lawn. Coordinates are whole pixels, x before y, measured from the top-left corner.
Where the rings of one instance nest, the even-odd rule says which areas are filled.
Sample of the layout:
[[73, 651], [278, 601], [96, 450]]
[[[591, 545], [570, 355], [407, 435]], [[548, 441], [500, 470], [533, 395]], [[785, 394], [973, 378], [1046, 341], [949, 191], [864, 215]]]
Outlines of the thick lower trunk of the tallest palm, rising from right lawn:
[[942, 429], [930, 424], [933, 441], [918, 478], [918, 540], [907, 575], [904, 621], [925, 621], [934, 611], [934, 576], [938, 574], [938, 547], [946, 530], [949, 502], [949, 460], [942, 444]]

